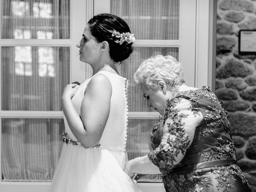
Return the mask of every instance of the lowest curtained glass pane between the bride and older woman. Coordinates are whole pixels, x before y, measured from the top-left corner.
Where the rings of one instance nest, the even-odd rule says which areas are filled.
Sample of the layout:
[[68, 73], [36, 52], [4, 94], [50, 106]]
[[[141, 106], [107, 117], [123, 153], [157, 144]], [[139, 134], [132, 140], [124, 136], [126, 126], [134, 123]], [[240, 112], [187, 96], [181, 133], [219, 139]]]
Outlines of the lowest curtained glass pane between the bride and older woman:
[[[127, 141], [129, 160], [145, 156], [152, 151], [150, 133], [154, 124], [158, 124], [158, 120], [129, 119]], [[162, 182], [162, 178], [161, 175], [146, 175], [141, 177], [138, 182]]]

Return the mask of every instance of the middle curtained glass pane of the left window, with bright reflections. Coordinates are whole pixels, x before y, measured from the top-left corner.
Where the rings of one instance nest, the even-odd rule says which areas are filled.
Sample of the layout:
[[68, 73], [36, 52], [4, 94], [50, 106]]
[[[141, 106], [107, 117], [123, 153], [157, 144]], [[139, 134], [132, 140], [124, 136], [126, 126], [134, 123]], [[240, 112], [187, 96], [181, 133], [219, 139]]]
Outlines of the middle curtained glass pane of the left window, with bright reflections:
[[60, 111], [69, 83], [70, 48], [1, 48], [2, 110]]

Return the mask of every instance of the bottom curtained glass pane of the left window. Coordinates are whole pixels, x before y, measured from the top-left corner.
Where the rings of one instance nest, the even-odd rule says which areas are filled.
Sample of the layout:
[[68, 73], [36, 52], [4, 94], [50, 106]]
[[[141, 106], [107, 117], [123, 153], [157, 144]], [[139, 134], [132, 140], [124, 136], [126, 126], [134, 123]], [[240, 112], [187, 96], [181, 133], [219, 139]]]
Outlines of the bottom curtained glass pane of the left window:
[[60, 157], [62, 119], [2, 119], [2, 181], [50, 181]]

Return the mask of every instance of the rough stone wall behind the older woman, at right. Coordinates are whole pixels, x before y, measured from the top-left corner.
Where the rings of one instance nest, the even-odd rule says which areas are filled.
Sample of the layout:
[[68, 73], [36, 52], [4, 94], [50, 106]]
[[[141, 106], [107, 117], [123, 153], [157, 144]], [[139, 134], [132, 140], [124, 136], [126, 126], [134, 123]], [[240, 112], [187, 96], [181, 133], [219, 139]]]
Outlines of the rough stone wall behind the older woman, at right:
[[256, 30], [256, 0], [218, 0], [216, 95], [229, 113], [238, 165], [256, 192], [256, 54], [238, 54], [240, 29]]

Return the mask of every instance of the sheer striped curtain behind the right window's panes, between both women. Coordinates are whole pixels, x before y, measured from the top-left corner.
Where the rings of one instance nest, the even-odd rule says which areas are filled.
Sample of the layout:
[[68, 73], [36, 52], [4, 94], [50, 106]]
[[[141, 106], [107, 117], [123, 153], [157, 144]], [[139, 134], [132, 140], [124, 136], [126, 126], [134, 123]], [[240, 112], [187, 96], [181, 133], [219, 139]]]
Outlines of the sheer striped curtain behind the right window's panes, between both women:
[[[110, 0], [110, 13], [123, 18], [136, 40], [178, 40], [180, 30], [180, 0]], [[157, 54], [179, 58], [178, 47], [134, 47], [131, 56], [117, 66], [121, 76], [130, 79], [128, 106], [130, 112], [152, 112], [142, 91], [133, 82], [140, 63]], [[144, 156], [152, 150], [150, 132], [158, 120], [128, 121], [128, 158]], [[161, 175], [146, 175], [138, 182], [162, 182]]]

